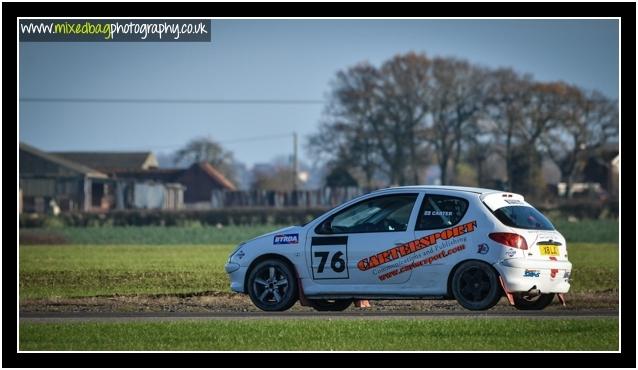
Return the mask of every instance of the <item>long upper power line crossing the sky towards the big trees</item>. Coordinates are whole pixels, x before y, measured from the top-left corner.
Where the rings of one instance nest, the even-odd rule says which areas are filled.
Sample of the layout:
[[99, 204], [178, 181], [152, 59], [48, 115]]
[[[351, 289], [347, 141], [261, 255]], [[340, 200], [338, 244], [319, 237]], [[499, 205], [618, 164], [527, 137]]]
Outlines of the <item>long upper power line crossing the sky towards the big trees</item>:
[[282, 104], [318, 105], [315, 99], [136, 99], [136, 98], [20, 98], [26, 103], [114, 103], [114, 104]]

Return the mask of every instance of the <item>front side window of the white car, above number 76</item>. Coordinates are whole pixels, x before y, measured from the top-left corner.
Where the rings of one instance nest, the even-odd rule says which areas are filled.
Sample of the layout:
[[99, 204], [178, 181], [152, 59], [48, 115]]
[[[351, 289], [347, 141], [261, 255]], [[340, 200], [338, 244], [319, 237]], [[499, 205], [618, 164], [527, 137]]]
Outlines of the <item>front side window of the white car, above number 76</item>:
[[406, 231], [417, 194], [396, 194], [366, 199], [323, 221], [317, 234]]

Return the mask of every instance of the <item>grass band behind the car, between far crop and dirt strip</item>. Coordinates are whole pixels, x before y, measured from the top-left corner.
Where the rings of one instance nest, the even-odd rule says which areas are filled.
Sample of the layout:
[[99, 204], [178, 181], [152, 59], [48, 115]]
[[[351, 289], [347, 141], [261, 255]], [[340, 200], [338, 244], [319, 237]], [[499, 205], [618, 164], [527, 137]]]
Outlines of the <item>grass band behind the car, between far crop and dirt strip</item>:
[[[232, 245], [20, 247], [20, 297], [65, 298], [229, 291]], [[570, 244], [570, 292], [617, 291], [618, 246]]]

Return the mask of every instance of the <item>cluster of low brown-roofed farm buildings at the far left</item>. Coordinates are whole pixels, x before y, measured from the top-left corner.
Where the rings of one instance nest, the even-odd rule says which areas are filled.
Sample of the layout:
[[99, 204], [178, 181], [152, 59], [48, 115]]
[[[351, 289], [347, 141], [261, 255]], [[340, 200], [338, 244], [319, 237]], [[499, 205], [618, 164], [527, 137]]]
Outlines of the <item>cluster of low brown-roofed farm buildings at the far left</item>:
[[213, 190], [236, 190], [208, 163], [161, 169], [151, 152], [46, 153], [20, 143], [19, 162], [25, 212], [209, 208]]

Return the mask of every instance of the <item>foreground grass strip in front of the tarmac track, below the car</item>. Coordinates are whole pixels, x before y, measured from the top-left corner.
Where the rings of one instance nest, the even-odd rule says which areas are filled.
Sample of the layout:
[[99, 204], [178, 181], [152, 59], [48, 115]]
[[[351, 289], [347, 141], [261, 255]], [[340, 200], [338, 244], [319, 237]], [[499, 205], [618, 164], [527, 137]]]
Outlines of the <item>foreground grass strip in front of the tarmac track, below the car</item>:
[[23, 323], [20, 350], [614, 351], [618, 319]]

